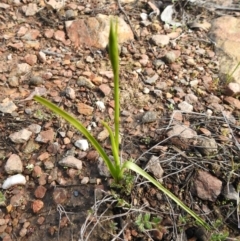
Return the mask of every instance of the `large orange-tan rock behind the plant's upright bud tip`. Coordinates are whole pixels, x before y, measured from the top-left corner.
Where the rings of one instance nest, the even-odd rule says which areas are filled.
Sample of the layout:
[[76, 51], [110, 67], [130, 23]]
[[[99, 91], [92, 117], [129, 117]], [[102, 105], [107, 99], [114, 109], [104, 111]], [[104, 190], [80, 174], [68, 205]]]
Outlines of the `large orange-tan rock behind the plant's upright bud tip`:
[[[111, 19], [113, 16], [98, 14], [96, 17], [66, 21], [67, 35], [76, 48], [81, 45], [105, 48], [108, 44]], [[117, 21], [119, 43], [133, 40], [134, 35], [129, 25], [122, 18], [118, 17]]]

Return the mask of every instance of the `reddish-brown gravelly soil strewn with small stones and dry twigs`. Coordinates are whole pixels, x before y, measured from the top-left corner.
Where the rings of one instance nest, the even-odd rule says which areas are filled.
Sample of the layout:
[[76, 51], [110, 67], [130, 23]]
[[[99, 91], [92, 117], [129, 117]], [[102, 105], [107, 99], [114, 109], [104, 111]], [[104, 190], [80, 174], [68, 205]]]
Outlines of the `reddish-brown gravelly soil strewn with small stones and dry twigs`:
[[[179, 20], [185, 16], [192, 21], [198, 16], [210, 23], [217, 16], [204, 8], [177, 2]], [[84, 126], [91, 127], [98, 139], [99, 133], [104, 131], [100, 120], [113, 126], [113, 83], [107, 72], [111, 71], [107, 50], [88, 46], [76, 49], [68, 39], [59, 41], [49, 34], [65, 31], [68, 10], [77, 12], [73, 19], [94, 17], [98, 13], [114, 13], [125, 18], [117, 4], [66, 0], [63, 8], [56, 12], [44, 1], [37, 1], [41, 12], [26, 16], [23, 9], [31, 1], [2, 0], [2, 3], [9, 8], [0, 8], [0, 103], [12, 100], [17, 109], [0, 113], [0, 182], [10, 176], [4, 168], [6, 161], [17, 154], [27, 183], [2, 190], [0, 239], [225, 240], [223, 236], [217, 239], [217, 234], [227, 232], [229, 240], [239, 240], [236, 201], [227, 199], [223, 192], [213, 200], [202, 200], [193, 190], [199, 170], [216, 177], [223, 187], [231, 183], [236, 190], [240, 177], [240, 151], [236, 144], [240, 140], [239, 108], [223, 102], [225, 83], [217, 75], [218, 58], [206, 29], [168, 28], [158, 18], [144, 25], [140, 14], [152, 12], [150, 5], [140, 0], [123, 4], [139, 39], [120, 46], [121, 157], [132, 158], [148, 170], [149, 159], [157, 156], [164, 171], [159, 180], [211, 225], [208, 233], [140, 177], [134, 176], [134, 180], [129, 181], [130, 193], [120, 193], [116, 188], [111, 192], [111, 178], [99, 174], [97, 152], [91, 147], [86, 151], [75, 147], [75, 141], [83, 136], [31, 99], [31, 93], [38, 93], [44, 87], [46, 98], [75, 115]], [[23, 39], [20, 31], [25, 29], [37, 31], [37, 41], [34, 37], [31, 37], [34, 40]], [[175, 37], [170, 44], [159, 47], [150, 41], [156, 33], [172, 33]], [[23, 46], [19, 40], [24, 42]], [[39, 56], [40, 51], [45, 51], [46, 57]], [[175, 54], [173, 61], [171, 56], [165, 58], [171, 51]], [[28, 63], [31, 68], [19, 71], [21, 63]], [[159, 78], [148, 84], [146, 80], [155, 74]], [[95, 87], [79, 85], [79, 76], [89, 79]], [[106, 89], [101, 89], [101, 84]], [[106, 92], [108, 89], [110, 93]], [[179, 105], [186, 98], [192, 106], [188, 113], [185, 111], [189, 106]], [[104, 111], [97, 107], [97, 100], [105, 104]], [[86, 104], [90, 114], [81, 113], [79, 104]], [[174, 112], [179, 109], [180, 112]], [[196, 140], [169, 138], [168, 131], [176, 123], [188, 126], [198, 135], [213, 138], [218, 152], [206, 156]], [[11, 134], [31, 124], [40, 125], [42, 131], [52, 130], [54, 137], [45, 143], [35, 141], [38, 134], [24, 143], [11, 141]], [[107, 136], [100, 138], [100, 142], [111, 155]], [[59, 165], [69, 153], [82, 160], [81, 170]], [[43, 207], [36, 211], [34, 205]], [[141, 216], [146, 213], [151, 215], [150, 226]], [[157, 224], [154, 218], [159, 218]], [[213, 234], [215, 239], [210, 239]]]

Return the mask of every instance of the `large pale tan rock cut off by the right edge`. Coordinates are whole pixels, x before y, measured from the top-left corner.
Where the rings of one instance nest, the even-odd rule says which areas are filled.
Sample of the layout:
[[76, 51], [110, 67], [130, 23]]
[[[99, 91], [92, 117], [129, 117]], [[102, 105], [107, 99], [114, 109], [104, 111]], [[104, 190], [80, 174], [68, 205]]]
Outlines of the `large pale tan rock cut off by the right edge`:
[[216, 43], [216, 52], [220, 56], [220, 78], [224, 81], [240, 83], [240, 66], [228, 79], [240, 61], [240, 19], [222, 16], [212, 22], [209, 37]]

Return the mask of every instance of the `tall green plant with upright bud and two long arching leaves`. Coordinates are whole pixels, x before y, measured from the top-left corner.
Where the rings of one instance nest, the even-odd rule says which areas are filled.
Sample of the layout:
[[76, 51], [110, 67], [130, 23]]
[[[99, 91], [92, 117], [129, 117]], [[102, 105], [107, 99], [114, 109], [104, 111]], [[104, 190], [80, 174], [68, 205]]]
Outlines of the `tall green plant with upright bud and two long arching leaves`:
[[114, 161], [112, 162], [108, 154], [99, 144], [99, 142], [90, 134], [90, 132], [72, 115], [67, 113], [66, 111], [60, 109], [58, 106], [53, 104], [52, 102], [46, 100], [40, 96], [34, 96], [34, 99], [52, 110], [54, 113], [63, 117], [66, 121], [68, 121], [72, 126], [77, 128], [92, 144], [92, 146], [98, 151], [99, 155], [104, 160], [105, 164], [108, 167], [109, 172], [114, 178], [115, 182], [120, 182], [124, 179], [124, 171], [125, 169], [130, 169], [141, 176], [145, 177], [149, 182], [155, 185], [159, 190], [164, 192], [168, 197], [170, 197], [174, 202], [177, 203], [181, 208], [183, 208], [186, 212], [188, 212], [192, 217], [194, 217], [199, 224], [203, 225], [205, 228], [210, 229], [208, 224], [201, 219], [195, 212], [193, 212], [190, 208], [188, 208], [180, 199], [178, 199], [172, 192], [166, 189], [161, 183], [156, 181], [152, 176], [150, 176], [147, 172], [141, 169], [138, 165], [133, 163], [132, 161], [125, 161], [123, 163], [120, 162], [119, 158], [119, 53], [118, 53], [118, 41], [117, 41], [117, 23], [111, 21], [110, 24], [110, 32], [109, 32], [109, 58], [112, 65], [113, 75], [114, 75], [114, 103], [115, 103], [115, 112], [114, 112], [114, 130], [115, 133], [111, 130], [110, 126], [102, 121], [103, 126], [108, 130], [112, 154], [114, 157]]

